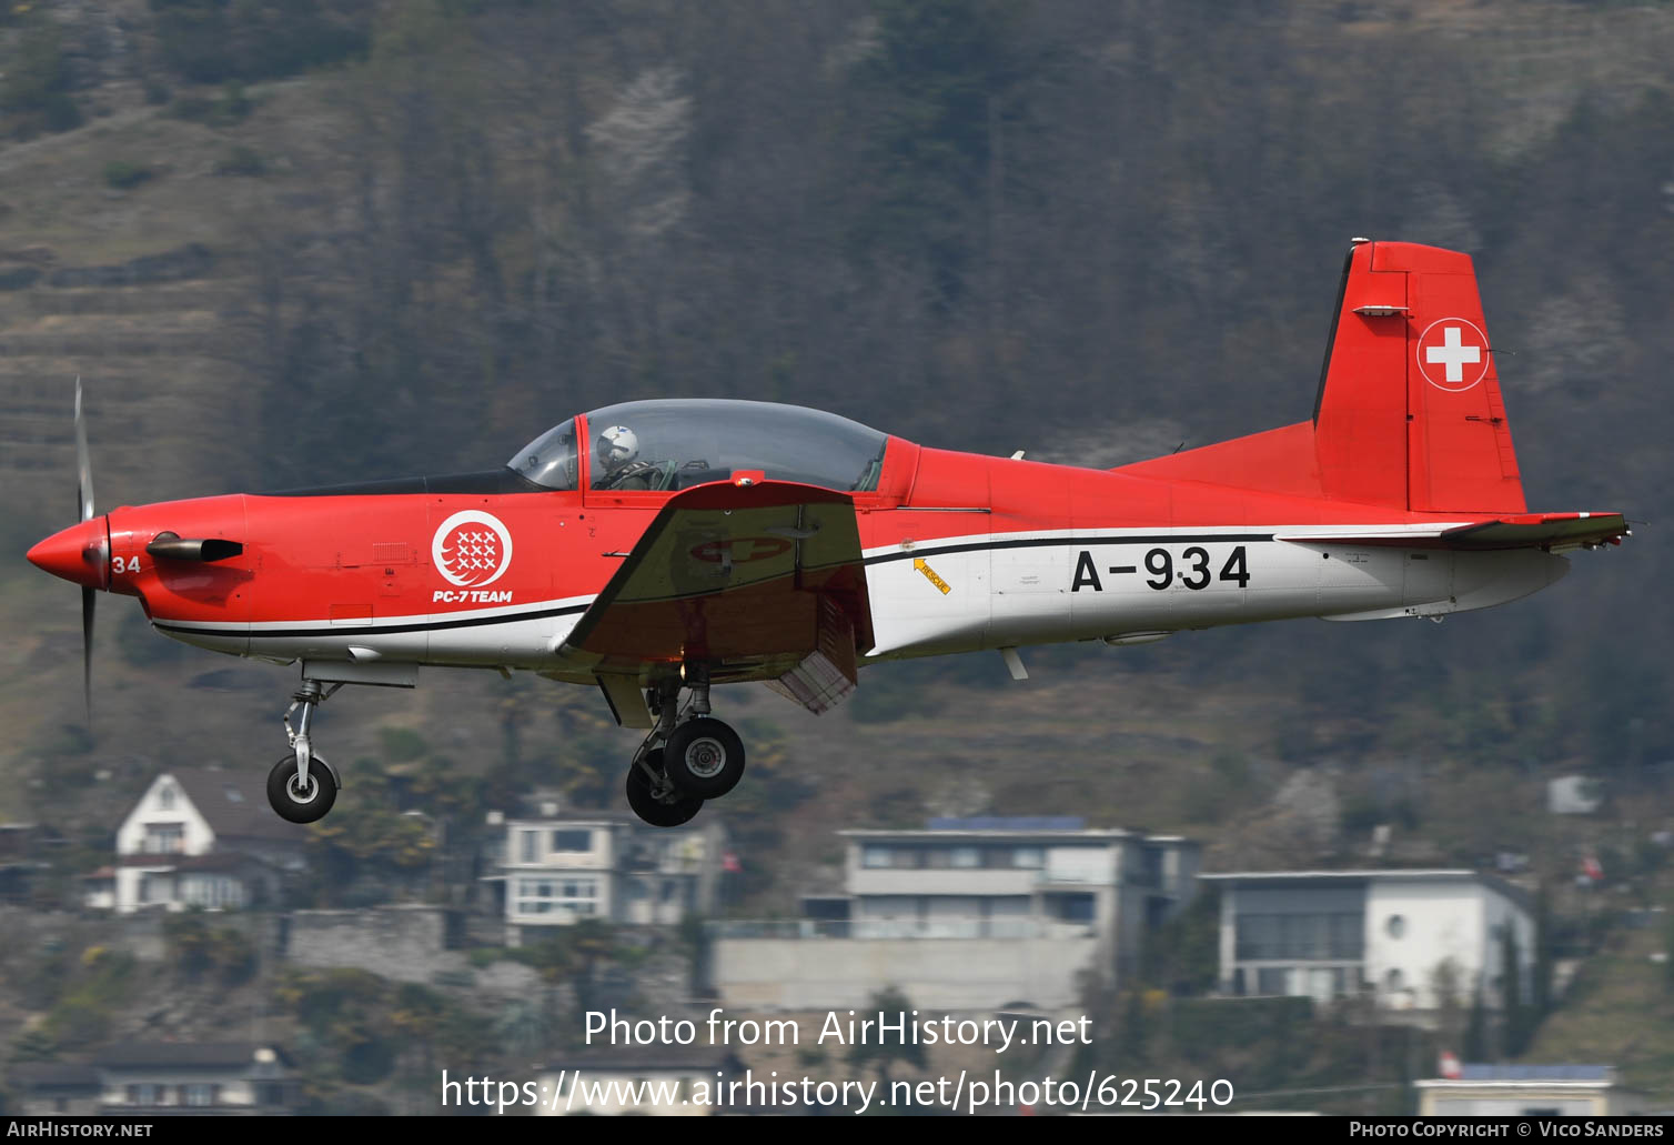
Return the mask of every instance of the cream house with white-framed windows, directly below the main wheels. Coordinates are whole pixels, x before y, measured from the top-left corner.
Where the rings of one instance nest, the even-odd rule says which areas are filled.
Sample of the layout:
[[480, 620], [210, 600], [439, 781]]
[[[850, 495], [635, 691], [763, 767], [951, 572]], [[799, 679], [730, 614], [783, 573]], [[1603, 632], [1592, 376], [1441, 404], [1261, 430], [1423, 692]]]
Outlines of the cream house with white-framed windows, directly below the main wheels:
[[487, 882], [504, 886], [512, 942], [522, 927], [588, 917], [670, 926], [715, 911], [723, 849], [715, 817], [675, 829], [609, 814], [512, 819]]

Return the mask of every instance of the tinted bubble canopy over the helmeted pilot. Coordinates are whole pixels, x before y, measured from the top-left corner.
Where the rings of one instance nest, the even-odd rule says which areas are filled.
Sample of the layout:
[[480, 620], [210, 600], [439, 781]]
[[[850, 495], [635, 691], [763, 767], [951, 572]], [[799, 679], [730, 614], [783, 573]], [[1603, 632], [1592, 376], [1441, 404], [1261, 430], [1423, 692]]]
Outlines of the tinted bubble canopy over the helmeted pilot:
[[554, 425], [507, 465], [547, 489], [586, 480], [594, 490], [678, 490], [758, 470], [767, 480], [870, 492], [887, 444], [886, 434], [859, 422], [798, 405], [623, 402]]

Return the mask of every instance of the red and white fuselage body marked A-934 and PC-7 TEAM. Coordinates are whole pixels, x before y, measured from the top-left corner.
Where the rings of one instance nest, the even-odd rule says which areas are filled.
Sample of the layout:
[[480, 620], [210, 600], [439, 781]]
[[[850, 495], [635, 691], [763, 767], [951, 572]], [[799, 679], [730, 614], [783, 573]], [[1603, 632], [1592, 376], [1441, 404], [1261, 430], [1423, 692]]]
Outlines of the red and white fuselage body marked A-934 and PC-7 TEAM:
[[[139, 596], [161, 633], [191, 644], [285, 663], [524, 668], [588, 683], [593, 666], [571, 663], [564, 638], [671, 494], [514, 477], [162, 502], [80, 529], [105, 522], [109, 589]], [[1443, 614], [1525, 596], [1567, 569], [1537, 549], [1341, 541], [1468, 517], [897, 437], [876, 489], [850, 495], [870, 608], [862, 663], [1304, 616]], [[218, 562], [149, 556], [164, 531], [236, 541], [243, 552]], [[777, 668], [732, 678], [770, 675]]]

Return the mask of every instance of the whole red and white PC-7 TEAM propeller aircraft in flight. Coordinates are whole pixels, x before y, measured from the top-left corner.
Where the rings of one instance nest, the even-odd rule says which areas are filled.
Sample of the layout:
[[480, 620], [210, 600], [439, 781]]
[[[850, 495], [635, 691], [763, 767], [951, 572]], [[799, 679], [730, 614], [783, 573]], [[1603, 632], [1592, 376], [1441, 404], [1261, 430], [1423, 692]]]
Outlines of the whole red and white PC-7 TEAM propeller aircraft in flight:
[[[675, 825], [743, 772], [710, 686], [812, 711], [879, 660], [1322, 616], [1441, 618], [1557, 581], [1619, 544], [1615, 512], [1528, 512], [1465, 254], [1356, 239], [1306, 422], [1090, 470], [914, 445], [758, 402], [629, 402], [504, 469], [95, 516], [28, 559], [137, 596], [154, 628], [301, 663], [268, 795], [321, 817], [338, 777], [310, 715], [420, 666], [598, 686], [648, 728], [641, 819]], [[681, 701], [685, 698], [685, 701]]]

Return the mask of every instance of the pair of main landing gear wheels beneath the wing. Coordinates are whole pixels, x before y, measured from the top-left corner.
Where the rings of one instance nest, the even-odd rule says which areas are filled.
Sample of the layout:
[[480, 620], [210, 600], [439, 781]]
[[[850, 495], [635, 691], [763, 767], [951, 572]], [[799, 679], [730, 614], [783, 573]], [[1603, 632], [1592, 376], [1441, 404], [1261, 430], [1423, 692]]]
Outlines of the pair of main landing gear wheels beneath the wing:
[[688, 665], [686, 686], [685, 706], [675, 681], [648, 693], [656, 727], [628, 765], [628, 805], [653, 827], [680, 827], [743, 777], [743, 742], [710, 715], [708, 675]]

